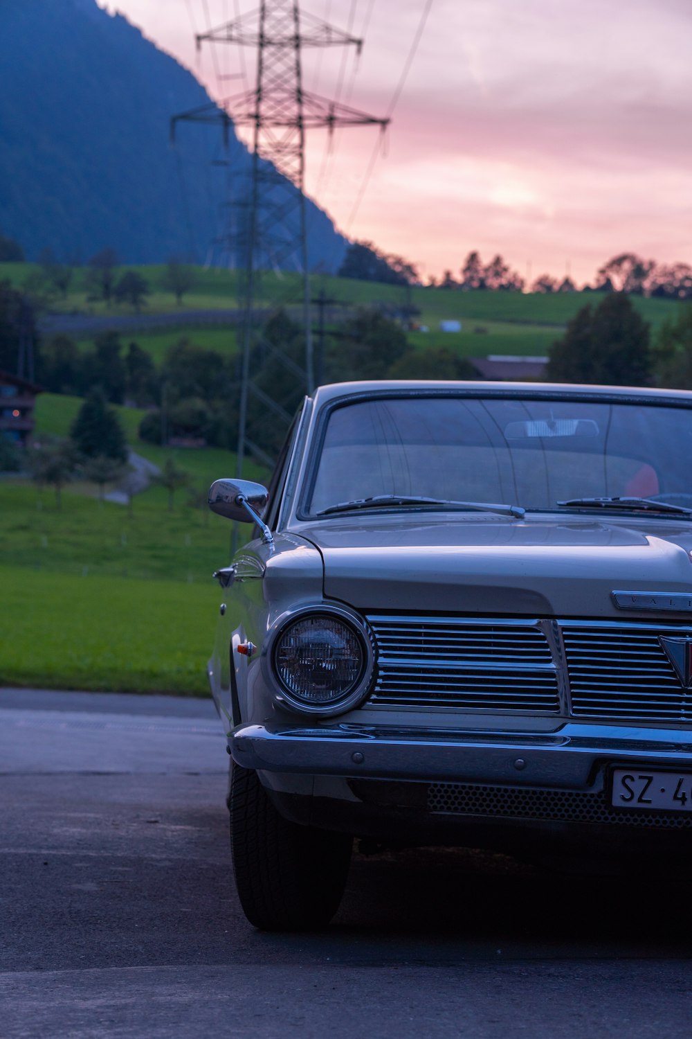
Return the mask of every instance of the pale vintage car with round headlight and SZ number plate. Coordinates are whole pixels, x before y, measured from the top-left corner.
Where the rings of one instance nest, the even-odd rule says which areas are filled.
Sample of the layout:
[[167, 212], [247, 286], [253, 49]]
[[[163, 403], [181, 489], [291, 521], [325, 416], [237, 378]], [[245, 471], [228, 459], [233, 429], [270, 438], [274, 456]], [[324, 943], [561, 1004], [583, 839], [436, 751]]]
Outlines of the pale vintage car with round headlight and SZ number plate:
[[354, 382], [307, 398], [215, 575], [252, 924], [328, 922], [353, 838], [621, 856], [692, 835], [692, 393]]

